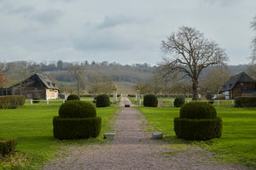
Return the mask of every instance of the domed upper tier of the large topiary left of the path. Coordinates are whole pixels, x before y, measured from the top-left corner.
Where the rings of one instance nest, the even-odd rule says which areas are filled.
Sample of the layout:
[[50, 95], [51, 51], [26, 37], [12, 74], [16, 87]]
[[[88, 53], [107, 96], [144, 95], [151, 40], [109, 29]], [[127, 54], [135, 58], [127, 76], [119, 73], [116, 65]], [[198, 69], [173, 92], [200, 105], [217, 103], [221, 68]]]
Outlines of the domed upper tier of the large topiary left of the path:
[[61, 105], [59, 116], [61, 118], [96, 117], [96, 109], [90, 102], [77, 99], [69, 100]]

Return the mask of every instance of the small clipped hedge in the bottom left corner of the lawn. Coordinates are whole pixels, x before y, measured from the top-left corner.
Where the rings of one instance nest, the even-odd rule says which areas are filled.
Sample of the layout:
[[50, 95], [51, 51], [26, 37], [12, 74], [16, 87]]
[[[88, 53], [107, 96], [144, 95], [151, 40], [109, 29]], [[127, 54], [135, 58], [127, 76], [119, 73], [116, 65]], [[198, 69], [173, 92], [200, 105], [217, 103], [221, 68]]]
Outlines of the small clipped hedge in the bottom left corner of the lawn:
[[17, 145], [17, 139], [15, 138], [0, 139], [0, 154], [1, 155], [9, 154], [11, 151], [15, 150], [16, 145]]

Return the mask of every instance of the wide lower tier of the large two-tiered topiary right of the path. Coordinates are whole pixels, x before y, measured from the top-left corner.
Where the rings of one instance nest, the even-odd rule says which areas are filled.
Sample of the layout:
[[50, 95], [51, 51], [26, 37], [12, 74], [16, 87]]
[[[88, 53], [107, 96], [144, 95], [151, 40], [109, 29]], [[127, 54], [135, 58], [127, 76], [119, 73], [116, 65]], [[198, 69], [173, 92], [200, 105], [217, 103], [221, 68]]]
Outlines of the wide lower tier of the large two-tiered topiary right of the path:
[[222, 119], [187, 119], [176, 117], [174, 131], [178, 138], [191, 140], [208, 140], [220, 138]]

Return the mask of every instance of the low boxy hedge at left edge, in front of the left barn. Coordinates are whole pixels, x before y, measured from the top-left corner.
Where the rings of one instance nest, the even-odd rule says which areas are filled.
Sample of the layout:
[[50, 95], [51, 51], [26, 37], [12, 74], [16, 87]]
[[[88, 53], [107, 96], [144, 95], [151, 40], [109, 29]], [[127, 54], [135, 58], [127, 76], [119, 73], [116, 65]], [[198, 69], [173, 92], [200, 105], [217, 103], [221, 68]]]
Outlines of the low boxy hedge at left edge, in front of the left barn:
[[16, 109], [25, 104], [26, 97], [22, 95], [0, 96], [0, 109]]

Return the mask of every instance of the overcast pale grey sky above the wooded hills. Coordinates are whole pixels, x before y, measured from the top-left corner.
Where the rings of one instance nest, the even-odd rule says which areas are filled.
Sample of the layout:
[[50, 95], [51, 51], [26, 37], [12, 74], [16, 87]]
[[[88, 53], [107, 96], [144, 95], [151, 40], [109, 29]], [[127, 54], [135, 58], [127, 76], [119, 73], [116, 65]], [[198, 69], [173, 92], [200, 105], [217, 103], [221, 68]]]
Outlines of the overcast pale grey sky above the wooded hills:
[[189, 26], [247, 64], [255, 15], [256, 0], [0, 0], [0, 59], [156, 65], [160, 42]]

